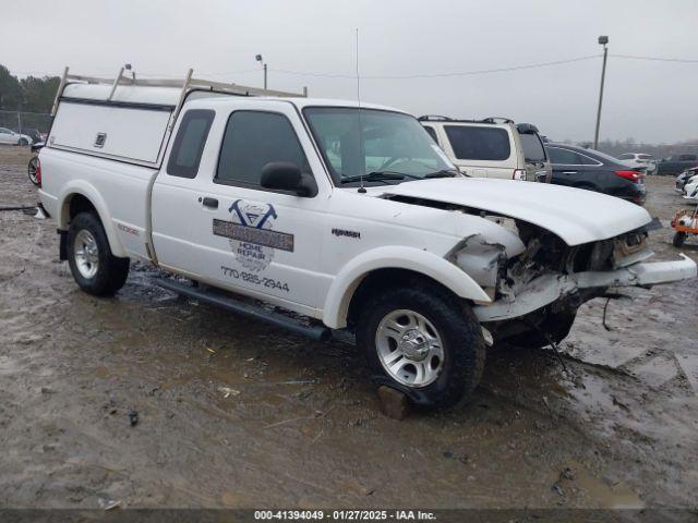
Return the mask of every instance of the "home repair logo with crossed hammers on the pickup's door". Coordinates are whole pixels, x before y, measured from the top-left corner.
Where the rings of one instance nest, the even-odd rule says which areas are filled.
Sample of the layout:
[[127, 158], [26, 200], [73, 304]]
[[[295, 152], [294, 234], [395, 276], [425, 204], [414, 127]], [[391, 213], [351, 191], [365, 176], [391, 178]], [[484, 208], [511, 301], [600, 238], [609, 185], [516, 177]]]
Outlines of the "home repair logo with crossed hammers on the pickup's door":
[[246, 269], [261, 271], [274, 259], [274, 250], [293, 252], [293, 234], [274, 231], [278, 218], [272, 204], [238, 199], [228, 209], [232, 221], [214, 219], [214, 234], [230, 239], [236, 259]]

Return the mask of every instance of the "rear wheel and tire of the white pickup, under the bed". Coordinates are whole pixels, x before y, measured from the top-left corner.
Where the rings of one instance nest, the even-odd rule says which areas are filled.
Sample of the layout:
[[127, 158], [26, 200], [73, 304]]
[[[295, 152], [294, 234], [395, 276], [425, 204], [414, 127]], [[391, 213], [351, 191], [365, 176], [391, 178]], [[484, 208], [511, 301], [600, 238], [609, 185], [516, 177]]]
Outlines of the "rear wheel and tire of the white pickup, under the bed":
[[110, 296], [129, 276], [129, 258], [111, 254], [107, 234], [93, 212], [81, 212], [70, 222], [68, 264], [77, 285], [95, 296]]

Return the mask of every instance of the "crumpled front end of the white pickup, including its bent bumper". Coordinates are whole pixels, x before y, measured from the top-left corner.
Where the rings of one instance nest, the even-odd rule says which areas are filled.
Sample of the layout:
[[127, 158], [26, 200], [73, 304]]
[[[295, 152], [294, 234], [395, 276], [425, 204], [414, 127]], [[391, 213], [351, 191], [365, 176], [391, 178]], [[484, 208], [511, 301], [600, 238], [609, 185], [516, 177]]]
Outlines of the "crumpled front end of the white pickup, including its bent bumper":
[[546, 341], [559, 341], [577, 308], [606, 295], [611, 288], [649, 288], [696, 277], [696, 264], [685, 255], [676, 262], [646, 263], [653, 254], [647, 227], [569, 246], [538, 226], [486, 218], [516, 231], [520, 245], [493, 244], [476, 234], [462, 242], [452, 259], [491, 297], [490, 303], [477, 303], [473, 311], [497, 342], [531, 331], [544, 333]]

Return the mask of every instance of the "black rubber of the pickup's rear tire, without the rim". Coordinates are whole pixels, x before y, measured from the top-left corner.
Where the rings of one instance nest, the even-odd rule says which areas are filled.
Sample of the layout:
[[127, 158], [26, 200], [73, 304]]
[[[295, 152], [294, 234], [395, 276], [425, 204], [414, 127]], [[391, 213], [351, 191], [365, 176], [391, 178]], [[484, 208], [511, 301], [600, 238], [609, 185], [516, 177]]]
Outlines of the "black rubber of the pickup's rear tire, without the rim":
[[[81, 272], [76, 259], [75, 242], [83, 230], [92, 235], [97, 251], [96, 271], [89, 277]], [[68, 231], [68, 264], [75, 282], [83, 291], [95, 296], [110, 296], [125, 283], [130, 260], [111, 254], [107, 233], [95, 214], [80, 212], [70, 222]]]

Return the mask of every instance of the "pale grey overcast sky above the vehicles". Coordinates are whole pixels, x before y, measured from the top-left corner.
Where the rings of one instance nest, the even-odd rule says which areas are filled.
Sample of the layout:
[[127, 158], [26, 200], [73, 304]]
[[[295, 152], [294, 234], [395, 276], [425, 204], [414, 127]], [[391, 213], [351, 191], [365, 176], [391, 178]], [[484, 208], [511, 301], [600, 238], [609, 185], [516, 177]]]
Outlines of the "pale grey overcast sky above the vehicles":
[[[601, 58], [466, 76], [387, 80], [552, 62], [601, 53], [698, 60], [696, 0], [2, 0], [0, 63], [14, 74], [197, 76], [356, 99], [414, 114], [503, 115], [555, 139], [591, 139]], [[233, 74], [230, 74], [233, 73]], [[698, 62], [609, 58], [601, 137], [698, 138]]]

